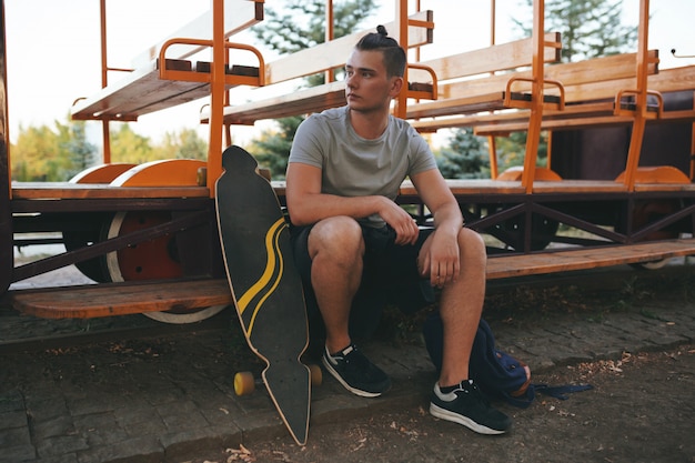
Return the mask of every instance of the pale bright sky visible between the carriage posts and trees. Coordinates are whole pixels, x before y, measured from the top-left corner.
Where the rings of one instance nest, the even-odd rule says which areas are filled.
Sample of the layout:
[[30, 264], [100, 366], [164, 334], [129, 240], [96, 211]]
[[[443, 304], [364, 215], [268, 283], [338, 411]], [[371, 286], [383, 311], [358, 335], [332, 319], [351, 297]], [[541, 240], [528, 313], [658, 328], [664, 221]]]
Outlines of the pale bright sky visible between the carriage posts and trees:
[[[340, 0], [335, 0], [336, 2]], [[265, 0], [266, 8], [282, 0]], [[394, 17], [394, 1], [383, 0], [374, 24]], [[511, 16], [523, 11], [524, 0], [496, 0], [496, 42], [518, 38]], [[210, 0], [110, 0], [109, 64], [130, 68], [131, 60], [171, 31], [210, 8]], [[639, 0], [623, 0], [624, 23], [636, 24]], [[4, 0], [8, 62], [10, 138], [20, 127], [53, 125], [67, 121], [70, 107], [80, 97], [101, 88], [99, 0]], [[491, 8], [486, 0], [421, 0], [421, 9], [434, 11], [434, 43], [422, 48], [421, 59], [432, 59], [483, 48], [491, 42]], [[649, 48], [659, 49], [662, 69], [694, 64], [695, 0], [652, 0]], [[262, 50], [250, 33], [238, 37]], [[266, 61], [272, 54], [266, 56]], [[112, 73], [110, 81], [119, 76]], [[183, 107], [141, 117], [134, 131], [159, 141], [165, 132], [207, 127], [198, 122], [200, 100]], [[98, 123], [92, 122], [98, 132]], [[264, 125], [260, 124], [262, 129]], [[265, 125], [266, 127], [266, 125]], [[233, 130], [236, 142], [252, 138], [259, 129]]]

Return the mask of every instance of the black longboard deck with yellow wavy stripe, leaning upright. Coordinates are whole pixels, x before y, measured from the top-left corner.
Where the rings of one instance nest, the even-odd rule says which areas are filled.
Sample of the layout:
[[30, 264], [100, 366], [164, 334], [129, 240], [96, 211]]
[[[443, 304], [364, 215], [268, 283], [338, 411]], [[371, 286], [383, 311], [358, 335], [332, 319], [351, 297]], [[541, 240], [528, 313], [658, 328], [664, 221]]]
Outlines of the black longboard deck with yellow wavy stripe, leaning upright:
[[224, 264], [236, 313], [251, 350], [266, 368], [268, 392], [292, 437], [306, 443], [310, 371], [300, 356], [309, 345], [302, 282], [290, 233], [273, 189], [258, 162], [239, 147], [222, 154], [215, 205]]

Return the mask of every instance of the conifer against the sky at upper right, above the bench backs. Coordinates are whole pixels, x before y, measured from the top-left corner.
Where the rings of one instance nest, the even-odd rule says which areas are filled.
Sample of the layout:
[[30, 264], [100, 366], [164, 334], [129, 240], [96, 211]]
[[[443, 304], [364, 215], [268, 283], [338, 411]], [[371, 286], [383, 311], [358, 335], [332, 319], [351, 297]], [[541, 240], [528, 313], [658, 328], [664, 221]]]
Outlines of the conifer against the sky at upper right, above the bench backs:
[[[525, 0], [531, 7], [533, 0]], [[635, 48], [636, 26], [622, 23], [623, 0], [546, 0], [545, 29], [562, 33], [562, 58], [580, 61]], [[530, 21], [514, 19], [524, 37]]]

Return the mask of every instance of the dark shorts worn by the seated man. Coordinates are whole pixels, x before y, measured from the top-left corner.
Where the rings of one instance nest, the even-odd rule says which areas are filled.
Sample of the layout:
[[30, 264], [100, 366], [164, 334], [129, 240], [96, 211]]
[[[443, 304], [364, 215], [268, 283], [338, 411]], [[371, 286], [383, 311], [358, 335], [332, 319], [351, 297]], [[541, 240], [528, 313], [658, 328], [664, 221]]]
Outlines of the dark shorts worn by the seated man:
[[[294, 261], [302, 276], [310, 328], [321, 334], [323, 323], [311, 285], [309, 233], [312, 225], [291, 227]], [[417, 254], [433, 229], [421, 229], [413, 245], [395, 244], [395, 232], [389, 227], [362, 227], [364, 238], [364, 268], [360, 289], [353, 300], [350, 331], [353, 338], [364, 338], [376, 329], [384, 306], [396, 305], [405, 313], [415, 312], [434, 302], [429, 279], [417, 272]]]

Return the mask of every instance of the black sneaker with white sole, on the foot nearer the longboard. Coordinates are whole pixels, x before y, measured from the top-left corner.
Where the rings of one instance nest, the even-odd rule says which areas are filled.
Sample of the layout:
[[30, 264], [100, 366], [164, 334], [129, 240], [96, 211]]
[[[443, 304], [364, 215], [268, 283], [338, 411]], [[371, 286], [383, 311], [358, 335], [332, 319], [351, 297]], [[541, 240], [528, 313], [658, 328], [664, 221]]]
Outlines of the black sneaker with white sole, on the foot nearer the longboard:
[[391, 380], [354, 344], [336, 354], [323, 350], [323, 365], [345, 389], [363, 397], [377, 397], [391, 387]]

